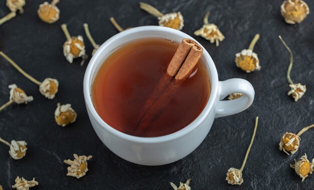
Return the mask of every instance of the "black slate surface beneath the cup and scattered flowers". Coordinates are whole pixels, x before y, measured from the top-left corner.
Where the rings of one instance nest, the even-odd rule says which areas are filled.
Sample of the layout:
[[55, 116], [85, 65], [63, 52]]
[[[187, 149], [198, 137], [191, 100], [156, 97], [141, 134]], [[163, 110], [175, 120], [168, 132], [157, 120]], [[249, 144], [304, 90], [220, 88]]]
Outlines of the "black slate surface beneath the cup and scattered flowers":
[[[286, 24], [280, 15], [281, 1], [145, 1], [162, 13], [181, 11], [185, 20], [183, 32], [193, 32], [203, 25], [203, 16], [211, 11], [215, 23], [225, 36], [219, 47], [195, 37], [210, 53], [220, 80], [243, 78], [255, 88], [255, 100], [246, 111], [216, 119], [203, 143], [190, 155], [163, 166], [141, 166], [113, 154], [94, 132], [83, 99], [83, 77], [86, 65], [80, 60], [69, 64], [63, 56], [65, 36], [60, 25], [68, 24], [71, 35], [83, 35], [87, 53], [92, 46], [83, 31], [88, 23], [95, 41], [102, 44], [117, 33], [109, 22], [111, 16], [122, 27], [158, 25], [158, 20], [141, 11], [138, 1], [61, 1], [60, 20], [52, 25], [37, 17], [44, 1], [27, 1], [25, 13], [0, 26], [0, 50], [13, 58], [25, 71], [42, 81], [46, 77], [60, 82], [54, 100], [48, 100], [38, 86], [25, 79], [7, 61], [0, 58], [0, 104], [9, 100], [9, 84], [17, 84], [34, 101], [27, 105], [11, 105], [0, 113], [0, 137], [25, 140], [27, 155], [21, 160], [10, 157], [9, 147], [0, 144], [0, 184], [10, 189], [16, 176], [35, 177], [39, 186], [32, 189], [172, 189], [169, 182], [179, 184], [192, 178], [192, 189], [313, 189], [314, 176], [301, 182], [289, 167], [294, 158], [304, 153], [314, 157], [313, 135], [309, 130], [301, 136], [299, 150], [291, 156], [278, 150], [280, 136], [298, 132], [314, 123], [314, 17], [310, 13], [299, 25]], [[314, 2], [307, 1], [310, 10]], [[0, 16], [9, 13], [5, 1], [0, 3]], [[255, 52], [261, 70], [244, 73], [236, 68], [235, 53], [248, 45], [254, 35], [260, 40]], [[285, 79], [289, 54], [278, 39], [281, 35], [294, 53], [291, 78], [306, 84], [307, 92], [298, 102], [286, 93]], [[60, 127], [54, 121], [57, 102], [71, 103], [78, 113], [77, 121]], [[256, 138], [243, 171], [244, 183], [227, 184], [230, 167], [240, 168], [253, 131], [254, 119], [260, 117]], [[191, 139], [193, 140], [193, 139]], [[93, 155], [89, 171], [80, 179], [66, 176], [64, 159], [72, 154]]]

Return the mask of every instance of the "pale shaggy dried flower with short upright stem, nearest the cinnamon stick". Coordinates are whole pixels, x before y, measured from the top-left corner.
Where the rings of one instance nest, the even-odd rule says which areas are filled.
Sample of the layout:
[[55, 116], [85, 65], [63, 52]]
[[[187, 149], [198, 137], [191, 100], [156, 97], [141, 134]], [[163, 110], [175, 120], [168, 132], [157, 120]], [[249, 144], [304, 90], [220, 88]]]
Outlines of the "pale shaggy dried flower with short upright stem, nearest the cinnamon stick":
[[206, 13], [204, 17], [204, 25], [200, 30], [194, 32], [196, 36], [202, 36], [206, 40], [209, 40], [210, 43], [215, 43], [216, 46], [219, 46], [219, 41], [222, 42], [225, 37], [222, 35], [218, 27], [214, 24], [208, 24], [209, 12]]

